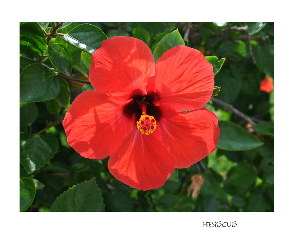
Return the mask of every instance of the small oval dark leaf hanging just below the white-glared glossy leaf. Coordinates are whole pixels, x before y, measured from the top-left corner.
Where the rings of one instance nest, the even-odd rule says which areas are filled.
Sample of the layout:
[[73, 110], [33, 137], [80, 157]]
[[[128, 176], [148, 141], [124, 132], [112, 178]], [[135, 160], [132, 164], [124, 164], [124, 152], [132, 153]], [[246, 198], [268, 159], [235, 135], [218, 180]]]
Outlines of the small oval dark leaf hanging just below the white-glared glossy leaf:
[[66, 76], [72, 72], [72, 59], [68, 49], [61, 44], [54, 43], [47, 48], [47, 54], [52, 65]]

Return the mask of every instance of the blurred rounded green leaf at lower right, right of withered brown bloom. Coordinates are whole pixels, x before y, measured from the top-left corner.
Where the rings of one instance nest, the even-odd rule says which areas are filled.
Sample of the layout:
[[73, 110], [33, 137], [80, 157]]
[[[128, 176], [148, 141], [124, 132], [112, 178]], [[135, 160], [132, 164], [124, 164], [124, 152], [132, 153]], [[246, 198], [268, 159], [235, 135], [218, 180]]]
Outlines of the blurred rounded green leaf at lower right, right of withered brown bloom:
[[237, 165], [230, 176], [227, 177], [227, 182], [242, 187], [255, 183], [257, 178], [257, 170], [248, 162], [242, 162]]

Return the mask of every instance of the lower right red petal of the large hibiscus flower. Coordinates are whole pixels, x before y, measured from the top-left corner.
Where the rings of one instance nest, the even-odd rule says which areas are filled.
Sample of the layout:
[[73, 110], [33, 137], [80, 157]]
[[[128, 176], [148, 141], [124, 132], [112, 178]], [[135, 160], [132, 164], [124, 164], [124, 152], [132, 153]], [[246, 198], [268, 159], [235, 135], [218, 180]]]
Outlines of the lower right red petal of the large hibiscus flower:
[[215, 150], [220, 130], [213, 112], [200, 108], [175, 113], [168, 103], [160, 108], [163, 116], [157, 125], [163, 144], [175, 158], [176, 168], [188, 168]]

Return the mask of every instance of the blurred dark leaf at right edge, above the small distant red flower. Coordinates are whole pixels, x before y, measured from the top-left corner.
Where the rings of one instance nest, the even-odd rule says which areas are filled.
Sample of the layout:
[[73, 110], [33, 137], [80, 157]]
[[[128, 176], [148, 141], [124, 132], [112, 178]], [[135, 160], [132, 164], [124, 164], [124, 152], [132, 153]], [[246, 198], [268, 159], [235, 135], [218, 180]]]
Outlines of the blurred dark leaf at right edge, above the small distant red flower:
[[253, 50], [253, 54], [259, 70], [274, 78], [274, 55], [270, 54], [268, 49], [261, 45]]

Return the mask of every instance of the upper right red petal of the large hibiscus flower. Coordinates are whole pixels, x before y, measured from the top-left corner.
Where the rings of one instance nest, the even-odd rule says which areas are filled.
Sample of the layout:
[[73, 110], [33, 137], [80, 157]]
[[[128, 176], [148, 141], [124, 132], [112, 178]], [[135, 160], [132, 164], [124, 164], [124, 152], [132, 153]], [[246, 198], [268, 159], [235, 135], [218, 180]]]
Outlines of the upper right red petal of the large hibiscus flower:
[[146, 91], [168, 102], [176, 112], [204, 107], [214, 88], [213, 66], [202, 53], [186, 46], [166, 51], [155, 65], [155, 75], [147, 80]]

